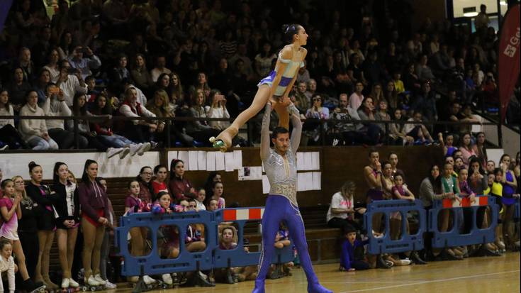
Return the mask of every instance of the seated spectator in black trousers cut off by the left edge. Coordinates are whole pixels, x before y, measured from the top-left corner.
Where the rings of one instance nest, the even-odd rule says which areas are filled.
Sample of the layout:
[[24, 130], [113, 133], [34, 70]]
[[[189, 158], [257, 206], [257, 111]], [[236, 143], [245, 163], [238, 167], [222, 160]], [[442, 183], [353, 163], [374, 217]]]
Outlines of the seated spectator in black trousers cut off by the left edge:
[[[0, 116], [14, 116], [13, 106], [9, 103], [9, 93], [6, 89], [0, 89]], [[45, 122], [45, 121], [44, 121]], [[14, 127], [14, 119], [0, 119], [0, 141], [4, 143], [0, 148], [8, 145], [11, 150], [17, 148], [29, 148]]]

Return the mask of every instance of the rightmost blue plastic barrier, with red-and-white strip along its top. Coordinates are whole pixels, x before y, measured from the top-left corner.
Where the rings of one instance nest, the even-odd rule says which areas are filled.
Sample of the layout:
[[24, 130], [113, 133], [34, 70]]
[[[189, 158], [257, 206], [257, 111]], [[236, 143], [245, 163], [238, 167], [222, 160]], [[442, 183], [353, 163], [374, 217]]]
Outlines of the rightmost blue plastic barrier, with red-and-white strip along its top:
[[[491, 208], [491, 223], [488, 228], [478, 228], [476, 225], [476, 212], [482, 206], [490, 206]], [[472, 210], [472, 228], [468, 234], [461, 234], [458, 231], [459, 217], [456, 213], [452, 216], [452, 228], [447, 232], [440, 232], [438, 229], [438, 214], [443, 209], [462, 209], [467, 208]], [[428, 231], [432, 232], [432, 247], [446, 248], [461, 245], [472, 245], [481, 243], [490, 243], [495, 239], [494, 229], [498, 224], [499, 206], [495, 204], [494, 197], [481, 196], [476, 197], [475, 203], [470, 203], [469, 199], [461, 199], [459, 201], [452, 201], [444, 199], [432, 202], [432, 209], [429, 211]]]

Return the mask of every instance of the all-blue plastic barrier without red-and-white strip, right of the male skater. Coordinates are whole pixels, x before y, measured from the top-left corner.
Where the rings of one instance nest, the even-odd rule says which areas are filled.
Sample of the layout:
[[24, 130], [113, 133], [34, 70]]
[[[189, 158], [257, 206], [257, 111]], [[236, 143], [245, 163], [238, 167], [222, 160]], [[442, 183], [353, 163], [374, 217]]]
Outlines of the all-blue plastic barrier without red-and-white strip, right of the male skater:
[[[401, 238], [397, 240], [391, 239], [390, 215], [393, 212], [399, 211], [402, 216]], [[417, 211], [420, 219], [418, 221], [418, 232], [410, 235], [407, 233], [406, 224], [408, 221], [408, 211]], [[377, 213], [385, 214], [385, 221], [382, 223], [386, 227], [386, 233], [381, 238], [374, 237], [371, 231], [373, 230], [373, 215]], [[423, 249], [423, 233], [425, 232], [425, 209], [422, 206], [422, 201], [415, 199], [415, 201], [400, 199], [400, 200], [382, 200], [373, 201], [367, 206], [367, 211], [364, 214], [364, 226], [369, 237], [368, 252], [371, 254], [380, 253], [403, 253], [411, 250]]]

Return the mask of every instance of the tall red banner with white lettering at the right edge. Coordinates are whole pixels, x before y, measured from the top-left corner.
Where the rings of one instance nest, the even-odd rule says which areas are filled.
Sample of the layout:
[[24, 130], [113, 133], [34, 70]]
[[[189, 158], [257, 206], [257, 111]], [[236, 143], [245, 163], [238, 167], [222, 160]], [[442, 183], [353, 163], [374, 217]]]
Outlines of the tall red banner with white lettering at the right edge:
[[510, 96], [520, 72], [520, 4], [505, 14], [499, 41], [499, 99], [501, 121], [505, 121]]

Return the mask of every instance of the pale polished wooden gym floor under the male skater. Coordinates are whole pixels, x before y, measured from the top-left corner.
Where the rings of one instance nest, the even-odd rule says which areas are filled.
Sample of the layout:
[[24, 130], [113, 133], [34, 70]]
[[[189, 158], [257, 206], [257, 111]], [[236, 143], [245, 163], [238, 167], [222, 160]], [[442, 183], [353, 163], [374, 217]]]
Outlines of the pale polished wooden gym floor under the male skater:
[[[390, 270], [339, 272], [338, 264], [315, 265], [320, 282], [335, 293], [349, 292], [520, 292], [520, 253], [500, 257], [430, 262], [427, 265], [393, 267]], [[196, 287], [163, 290], [165, 293], [250, 293], [254, 282], [217, 284], [213, 288]], [[306, 275], [302, 269], [293, 276], [266, 281], [266, 292], [305, 293]], [[288, 290], [288, 291], [285, 291]], [[113, 290], [111, 290], [113, 292]], [[130, 292], [118, 289], [117, 293]]]

